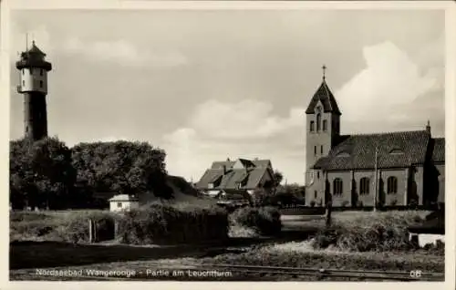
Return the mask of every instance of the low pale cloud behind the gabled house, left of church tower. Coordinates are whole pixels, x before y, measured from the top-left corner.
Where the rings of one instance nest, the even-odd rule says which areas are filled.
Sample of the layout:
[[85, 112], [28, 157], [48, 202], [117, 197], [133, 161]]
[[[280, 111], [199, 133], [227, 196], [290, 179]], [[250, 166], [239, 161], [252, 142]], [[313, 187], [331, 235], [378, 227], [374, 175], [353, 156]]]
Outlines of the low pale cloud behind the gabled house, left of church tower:
[[[212, 161], [258, 157], [271, 159], [288, 178], [301, 181], [304, 169], [298, 164], [296, 170], [293, 163], [296, 156], [304, 156], [300, 136], [304, 120], [304, 109], [300, 108], [290, 109], [282, 118], [264, 101], [208, 100], [193, 110], [186, 127], [163, 137], [167, 168], [196, 181]], [[299, 163], [304, 167], [304, 161]]]

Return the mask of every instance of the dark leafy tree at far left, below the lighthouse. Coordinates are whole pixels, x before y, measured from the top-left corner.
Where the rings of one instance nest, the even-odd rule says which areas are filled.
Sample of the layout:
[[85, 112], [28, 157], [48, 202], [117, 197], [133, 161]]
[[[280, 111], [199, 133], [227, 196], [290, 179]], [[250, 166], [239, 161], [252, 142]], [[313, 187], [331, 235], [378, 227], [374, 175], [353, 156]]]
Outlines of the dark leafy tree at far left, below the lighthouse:
[[76, 180], [71, 150], [57, 138], [10, 142], [10, 201], [13, 208], [58, 209]]

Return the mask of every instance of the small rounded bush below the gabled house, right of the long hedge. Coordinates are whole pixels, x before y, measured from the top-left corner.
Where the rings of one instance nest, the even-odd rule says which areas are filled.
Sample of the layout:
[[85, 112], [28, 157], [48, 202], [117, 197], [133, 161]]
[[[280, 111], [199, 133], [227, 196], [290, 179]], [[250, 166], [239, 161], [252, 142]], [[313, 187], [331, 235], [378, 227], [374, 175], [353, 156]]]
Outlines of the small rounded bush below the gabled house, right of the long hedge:
[[260, 234], [276, 234], [282, 230], [280, 212], [273, 207], [244, 207], [230, 215], [233, 225], [253, 229]]

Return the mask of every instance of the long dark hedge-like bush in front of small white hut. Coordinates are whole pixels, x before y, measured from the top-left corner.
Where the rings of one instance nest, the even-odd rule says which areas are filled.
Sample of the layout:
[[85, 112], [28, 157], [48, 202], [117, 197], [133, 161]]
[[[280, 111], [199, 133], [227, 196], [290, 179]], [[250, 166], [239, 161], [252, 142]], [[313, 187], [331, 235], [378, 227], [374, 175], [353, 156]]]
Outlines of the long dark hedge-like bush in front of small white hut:
[[121, 243], [197, 243], [226, 239], [228, 215], [216, 206], [150, 203], [119, 219]]

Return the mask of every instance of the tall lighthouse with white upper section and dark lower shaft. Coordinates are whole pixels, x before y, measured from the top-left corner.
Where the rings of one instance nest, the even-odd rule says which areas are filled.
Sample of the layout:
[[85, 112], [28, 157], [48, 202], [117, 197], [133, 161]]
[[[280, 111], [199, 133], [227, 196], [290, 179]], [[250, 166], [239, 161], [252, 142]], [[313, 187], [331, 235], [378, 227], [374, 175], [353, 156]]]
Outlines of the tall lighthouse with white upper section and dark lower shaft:
[[21, 53], [16, 61], [20, 74], [17, 92], [24, 95], [25, 137], [41, 140], [47, 137], [47, 72], [51, 63], [45, 60], [46, 54], [32, 42], [32, 47]]

